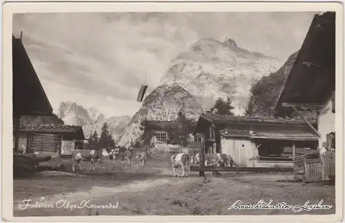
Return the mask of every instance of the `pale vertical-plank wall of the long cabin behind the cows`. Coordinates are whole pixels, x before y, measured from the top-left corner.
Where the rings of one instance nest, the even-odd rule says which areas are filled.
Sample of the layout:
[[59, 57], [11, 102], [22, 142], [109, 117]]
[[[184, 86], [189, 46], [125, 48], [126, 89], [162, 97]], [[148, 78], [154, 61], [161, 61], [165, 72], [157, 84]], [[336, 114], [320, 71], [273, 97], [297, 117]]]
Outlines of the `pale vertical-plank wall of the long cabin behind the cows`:
[[253, 157], [259, 155], [255, 143], [246, 138], [221, 137], [221, 153], [233, 157], [235, 163], [241, 167], [254, 167], [256, 160]]

